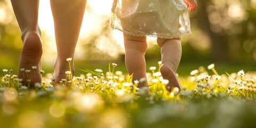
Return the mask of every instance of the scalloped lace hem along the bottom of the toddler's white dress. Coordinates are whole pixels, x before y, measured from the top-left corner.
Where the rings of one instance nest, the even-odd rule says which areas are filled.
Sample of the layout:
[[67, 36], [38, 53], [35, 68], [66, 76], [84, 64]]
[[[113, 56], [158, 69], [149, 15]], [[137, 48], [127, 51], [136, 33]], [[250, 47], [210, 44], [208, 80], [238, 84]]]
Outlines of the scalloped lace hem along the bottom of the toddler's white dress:
[[118, 29], [118, 28], [111, 28], [112, 30], [119, 30], [127, 35], [130, 35], [130, 36], [137, 36], [137, 37], [147, 37], [147, 36], [150, 36], [150, 37], [157, 37], [157, 38], [179, 38], [179, 37], [182, 37], [182, 36], [186, 36], [186, 35], [189, 35], [189, 34], [192, 34], [191, 30], [188, 30], [188, 31], [185, 31], [184, 33], [181, 33], [181, 34], [178, 34], [178, 35], [175, 35], [175, 36], [168, 36], [168, 35], [161, 35], [161, 34], [134, 34], [134, 33], [130, 33], [129, 31], [124, 31], [122, 29]]

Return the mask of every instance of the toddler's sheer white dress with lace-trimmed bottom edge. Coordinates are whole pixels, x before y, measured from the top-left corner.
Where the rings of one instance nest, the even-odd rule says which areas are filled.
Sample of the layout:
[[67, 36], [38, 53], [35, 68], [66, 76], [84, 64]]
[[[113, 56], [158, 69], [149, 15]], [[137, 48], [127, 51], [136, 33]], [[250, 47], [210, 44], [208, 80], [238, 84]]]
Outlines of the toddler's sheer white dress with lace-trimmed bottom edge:
[[183, 0], [114, 0], [110, 25], [133, 36], [174, 38], [191, 33]]

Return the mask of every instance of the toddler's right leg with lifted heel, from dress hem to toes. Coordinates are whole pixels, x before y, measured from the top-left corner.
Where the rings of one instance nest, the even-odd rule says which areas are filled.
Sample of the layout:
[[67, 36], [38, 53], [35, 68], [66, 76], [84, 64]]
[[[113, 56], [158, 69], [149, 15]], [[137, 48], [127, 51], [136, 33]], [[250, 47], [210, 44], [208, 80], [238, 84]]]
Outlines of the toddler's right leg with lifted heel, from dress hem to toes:
[[157, 44], [161, 47], [162, 66], [160, 71], [163, 78], [169, 80], [166, 89], [168, 91], [171, 91], [173, 87], [180, 89], [179, 80], [176, 75], [182, 52], [180, 38], [157, 38]]

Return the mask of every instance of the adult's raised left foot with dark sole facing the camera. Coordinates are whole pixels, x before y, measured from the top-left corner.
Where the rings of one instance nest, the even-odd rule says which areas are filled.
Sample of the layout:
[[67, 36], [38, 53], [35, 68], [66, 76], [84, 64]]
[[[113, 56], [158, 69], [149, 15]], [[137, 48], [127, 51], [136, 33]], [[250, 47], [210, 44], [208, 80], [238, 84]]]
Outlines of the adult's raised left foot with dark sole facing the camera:
[[[19, 69], [25, 70], [19, 70], [18, 77], [23, 79], [24, 85], [33, 87], [35, 83], [42, 83], [41, 57], [43, 49], [41, 36], [35, 30], [31, 30], [23, 36], [22, 40], [23, 48], [20, 56]], [[30, 70], [30, 72], [26, 73], [26, 70], [27, 72]]]

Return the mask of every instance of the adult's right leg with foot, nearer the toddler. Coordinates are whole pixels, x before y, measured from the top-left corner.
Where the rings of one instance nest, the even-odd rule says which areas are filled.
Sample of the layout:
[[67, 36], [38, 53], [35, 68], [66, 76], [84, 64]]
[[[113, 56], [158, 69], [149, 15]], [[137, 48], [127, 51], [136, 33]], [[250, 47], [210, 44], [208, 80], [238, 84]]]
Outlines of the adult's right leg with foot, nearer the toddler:
[[[67, 58], [73, 58], [81, 29], [86, 0], [51, 0], [54, 19], [57, 59], [54, 63], [55, 82], [66, 78], [65, 71], [69, 70]], [[74, 62], [71, 61], [71, 73], [74, 75]]]

